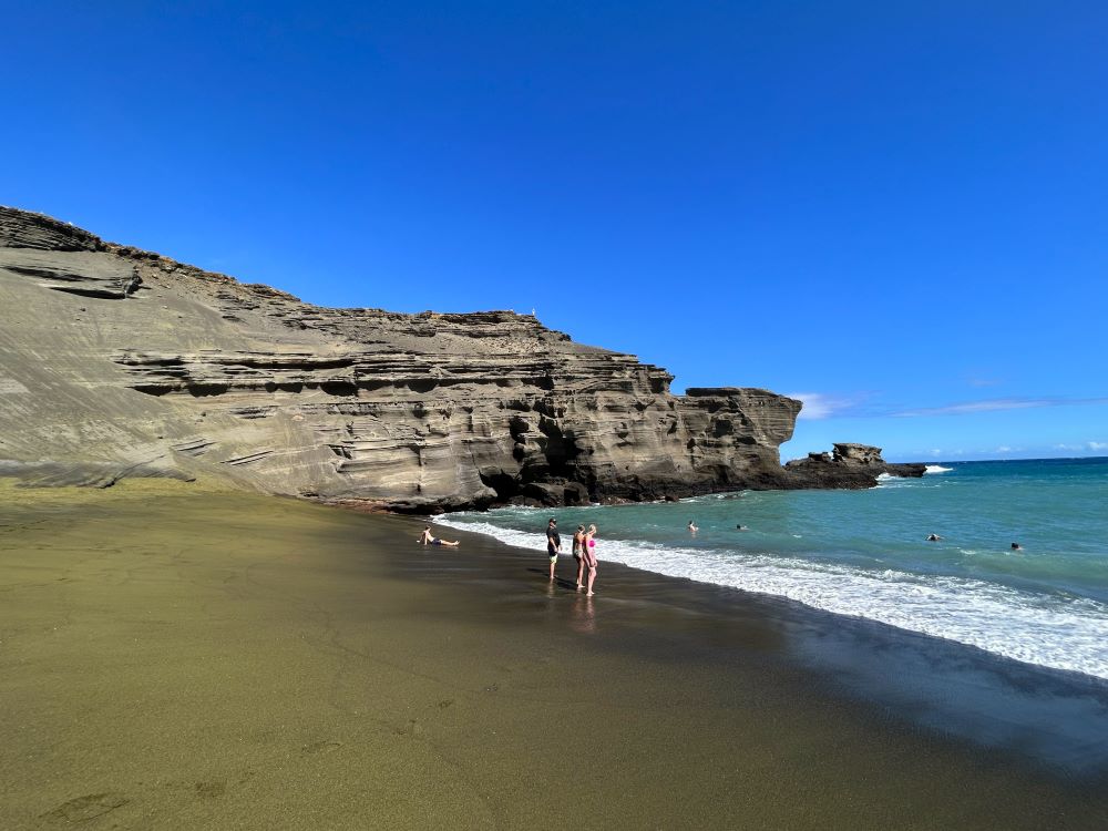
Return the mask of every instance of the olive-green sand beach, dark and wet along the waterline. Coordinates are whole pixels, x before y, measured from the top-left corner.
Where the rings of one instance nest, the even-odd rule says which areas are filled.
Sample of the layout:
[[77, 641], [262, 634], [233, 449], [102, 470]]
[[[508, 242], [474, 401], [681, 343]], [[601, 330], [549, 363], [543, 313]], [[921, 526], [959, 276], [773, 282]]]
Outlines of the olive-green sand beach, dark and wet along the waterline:
[[420, 529], [0, 480], [0, 828], [1108, 827], [1095, 685]]

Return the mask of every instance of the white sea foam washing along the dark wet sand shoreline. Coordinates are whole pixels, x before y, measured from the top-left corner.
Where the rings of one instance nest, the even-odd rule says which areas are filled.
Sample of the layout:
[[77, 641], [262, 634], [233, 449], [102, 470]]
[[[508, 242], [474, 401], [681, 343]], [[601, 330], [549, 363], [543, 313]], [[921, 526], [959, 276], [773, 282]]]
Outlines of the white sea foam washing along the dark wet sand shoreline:
[[[541, 534], [488, 522], [435, 520], [541, 550]], [[1027, 594], [984, 581], [870, 572], [799, 557], [675, 548], [599, 540], [601, 561], [674, 577], [777, 595], [840, 615], [864, 617], [1044, 667], [1108, 678], [1108, 606]]]

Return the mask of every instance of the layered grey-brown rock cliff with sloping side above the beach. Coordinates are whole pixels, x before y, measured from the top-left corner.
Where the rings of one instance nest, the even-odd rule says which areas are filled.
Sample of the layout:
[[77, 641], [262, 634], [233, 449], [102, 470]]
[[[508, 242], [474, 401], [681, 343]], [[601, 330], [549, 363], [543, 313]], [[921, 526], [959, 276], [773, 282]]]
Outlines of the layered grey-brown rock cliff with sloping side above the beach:
[[393, 510], [808, 486], [800, 402], [669, 391], [507, 311], [329, 309], [0, 208], [0, 472], [216, 475]]

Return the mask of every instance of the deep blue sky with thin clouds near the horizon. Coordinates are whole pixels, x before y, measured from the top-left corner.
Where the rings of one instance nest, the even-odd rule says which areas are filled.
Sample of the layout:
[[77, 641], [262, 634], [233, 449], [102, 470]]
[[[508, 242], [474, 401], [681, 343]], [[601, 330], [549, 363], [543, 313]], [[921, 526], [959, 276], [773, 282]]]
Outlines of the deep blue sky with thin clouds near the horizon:
[[1108, 454], [1104, 3], [7, 6], [0, 203], [535, 309], [802, 397], [784, 458]]

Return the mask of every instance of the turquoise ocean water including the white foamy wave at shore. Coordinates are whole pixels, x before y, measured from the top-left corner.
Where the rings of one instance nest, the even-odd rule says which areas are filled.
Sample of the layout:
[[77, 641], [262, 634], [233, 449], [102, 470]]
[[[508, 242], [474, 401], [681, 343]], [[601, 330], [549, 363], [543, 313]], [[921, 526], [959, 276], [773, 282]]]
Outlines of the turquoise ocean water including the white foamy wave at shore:
[[[596, 523], [602, 565], [786, 597], [1108, 678], [1108, 458], [950, 462], [868, 491], [512, 507], [437, 522], [541, 551], [550, 515], [565, 551], [577, 523]], [[932, 533], [943, 538], [929, 542]], [[618, 586], [602, 576], [598, 592]]]

